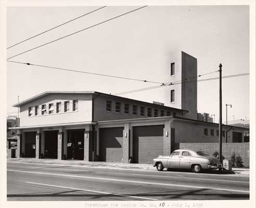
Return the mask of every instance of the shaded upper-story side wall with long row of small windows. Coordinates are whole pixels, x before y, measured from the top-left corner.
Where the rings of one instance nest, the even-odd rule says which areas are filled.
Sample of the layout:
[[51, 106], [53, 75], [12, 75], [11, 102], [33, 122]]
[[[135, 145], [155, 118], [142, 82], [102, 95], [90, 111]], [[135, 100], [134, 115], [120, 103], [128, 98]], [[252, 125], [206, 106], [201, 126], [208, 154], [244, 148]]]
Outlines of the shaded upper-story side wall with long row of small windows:
[[[106, 110], [106, 100], [112, 101], [111, 111]], [[116, 102], [121, 102], [121, 112], [116, 112]], [[130, 105], [130, 113], [124, 113], [124, 104], [127, 103]], [[133, 105], [137, 105], [137, 115], [133, 115]], [[145, 116], [140, 116], [140, 107], [145, 107]], [[167, 111], [176, 112], [177, 116], [182, 116], [180, 111], [175, 111], [172, 109], [164, 107], [156, 107], [155, 105], [144, 105], [144, 103], [125, 100], [122, 98], [115, 98], [112, 96], [100, 95], [94, 99], [94, 121], [110, 121], [110, 120], [119, 120], [119, 119], [135, 119], [135, 118], [148, 118], [147, 108], [152, 109], [152, 116], [154, 116], [154, 109], [158, 109], [158, 116], [160, 117], [160, 110], [164, 110], [164, 116], [167, 116]]]

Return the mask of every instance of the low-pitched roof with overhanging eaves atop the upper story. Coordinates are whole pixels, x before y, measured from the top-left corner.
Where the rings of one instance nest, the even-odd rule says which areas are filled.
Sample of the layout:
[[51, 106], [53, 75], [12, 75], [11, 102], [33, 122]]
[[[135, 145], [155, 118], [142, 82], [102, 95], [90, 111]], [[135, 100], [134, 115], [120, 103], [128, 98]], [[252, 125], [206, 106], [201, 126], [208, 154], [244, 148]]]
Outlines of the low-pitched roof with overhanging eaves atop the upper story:
[[172, 108], [172, 107], [168, 107], [168, 106], [162, 106], [162, 105], [158, 105], [156, 103], [151, 103], [151, 102], [145, 102], [145, 101], [141, 101], [141, 100], [134, 100], [134, 99], [130, 99], [130, 98], [125, 98], [125, 97], [120, 97], [120, 96], [116, 96], [116, 95], [110, 95], [110, 94], [106, 94], [106, 93], [100, 93], [100, 92], [96, 92], [96, 91], [46, 91], [44, 93], [41, 93], [39, 95], [30, 97], [28, 99], [25, 99], [21, 102], [16, 103], [15, 105], [13, 105], [13, 107], [19, 107], [24, 105], [25, 103], [31, 102], [33, 100], [39, 99], [41, 97], [44, 97], [46, 95], [49, 94], [98, 94], [98, 95], [105, 95], [105, 96], [109, 96], [109, 97], [115, 97], [118, 99], [125, 99], [125, 100], [130, 100], [130, 101], [135, 101], [135, 102], [140, 102], [140, 103], [144, 103], [146, 105], [152, 105], [152, 106], [156, 106], [156, 107], [161, 107], [161, 108], [167, 108], [167, 109], [172, 109], [175, 111], [182, 111], [182, 112], [188, 112], [188, 110], [184, 110], [184, 109], [178, 109], [178, 108]]

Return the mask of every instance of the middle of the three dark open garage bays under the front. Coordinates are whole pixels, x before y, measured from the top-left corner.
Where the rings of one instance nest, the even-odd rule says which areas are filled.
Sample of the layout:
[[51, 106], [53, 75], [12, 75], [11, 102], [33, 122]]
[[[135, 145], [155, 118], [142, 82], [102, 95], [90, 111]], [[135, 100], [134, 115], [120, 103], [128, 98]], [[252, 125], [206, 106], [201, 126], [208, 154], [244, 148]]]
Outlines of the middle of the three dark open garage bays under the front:
[[58, 158], [58, 131], [45, 131], [44, 158]]

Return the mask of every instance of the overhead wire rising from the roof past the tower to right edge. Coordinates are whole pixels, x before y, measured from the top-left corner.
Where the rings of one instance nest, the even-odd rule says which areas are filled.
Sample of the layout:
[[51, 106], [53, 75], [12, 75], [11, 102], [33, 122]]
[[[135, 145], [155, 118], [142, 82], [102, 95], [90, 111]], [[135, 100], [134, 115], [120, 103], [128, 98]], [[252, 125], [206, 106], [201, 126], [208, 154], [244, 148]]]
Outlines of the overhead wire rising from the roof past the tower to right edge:
[[[246, 75], [249, 75], [249, 73], [222, 76], [222, 79], [237, 77], [237, 76], [246, 76]], [[199, 75], [199, 76], [202, 76], [202, 75]], [[113, 94], [113, 95], [124, 95], [124, 94], [141, 92], [141, 91], [149, 90], [149, 89], [156, 89], [156, 88], [159, 88], [159, 87], [168, 87], [168, 86], [171, 86], [171, 85], [177, 85], [177, 84], [183, 84], [183, 83], [203, 82], [203, 81], [210, 81], [210, 80], [217, 80], [217, 79], [220, 79], [220, 77], [212, 77], [212, 78], [209, 78], [209, 79], [202, 79], [202, 80], [197, 80], [197, 81], [184, 81], [184, 82], [178, 81], [176, 83], [173, 82], [173, 83], [170, 83], [170, 84], [156, 85], [156, 86], [147, 87], [147, 88], [134, 89], [134, 90], [130, 90], [130, 91], [122, 92], [122, 93], [116, 93], [116, 94]]]

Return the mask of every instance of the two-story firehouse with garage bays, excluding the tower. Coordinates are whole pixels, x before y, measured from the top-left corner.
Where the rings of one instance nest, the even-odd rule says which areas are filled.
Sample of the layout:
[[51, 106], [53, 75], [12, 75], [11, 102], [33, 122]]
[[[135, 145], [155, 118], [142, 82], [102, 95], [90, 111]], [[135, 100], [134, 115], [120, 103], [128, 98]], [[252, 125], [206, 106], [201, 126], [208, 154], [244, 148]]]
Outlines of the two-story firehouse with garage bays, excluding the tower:
[[[185, 118], [187, 110], [99, 92], [45, 92], [14, 107], [18, 157], [151, 163], [175, 142], [219, 139], [218, 124]], [[244, 142], [246, 130], [224, 125], [223, 142]]]

